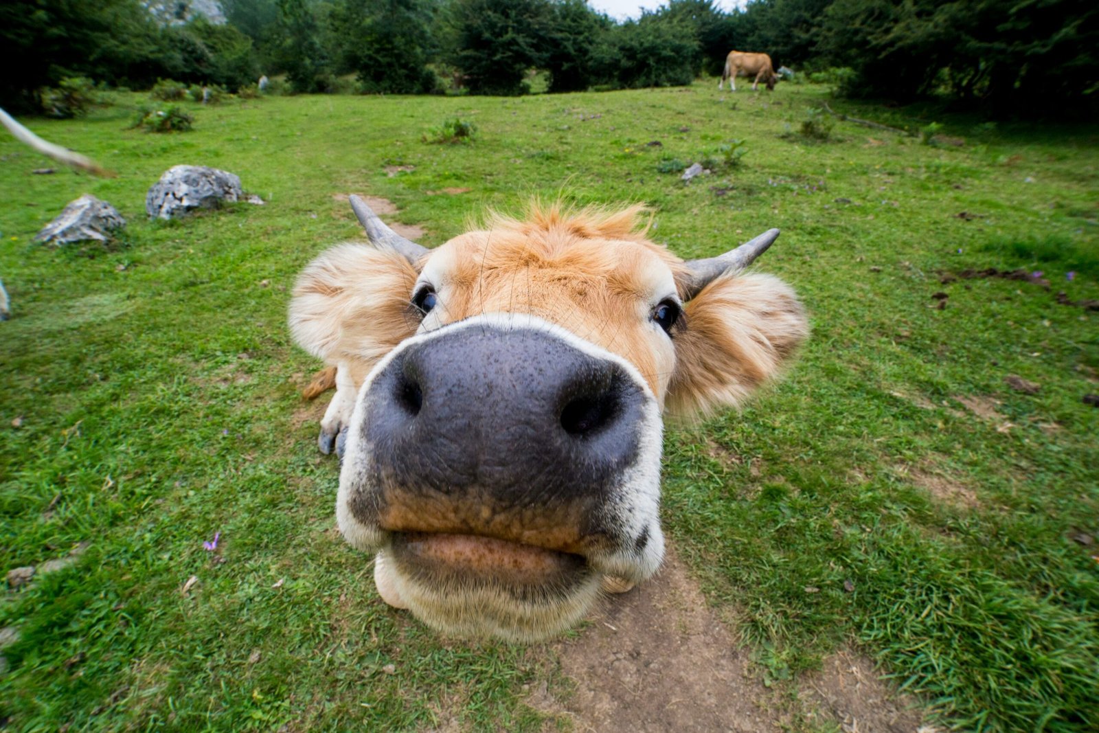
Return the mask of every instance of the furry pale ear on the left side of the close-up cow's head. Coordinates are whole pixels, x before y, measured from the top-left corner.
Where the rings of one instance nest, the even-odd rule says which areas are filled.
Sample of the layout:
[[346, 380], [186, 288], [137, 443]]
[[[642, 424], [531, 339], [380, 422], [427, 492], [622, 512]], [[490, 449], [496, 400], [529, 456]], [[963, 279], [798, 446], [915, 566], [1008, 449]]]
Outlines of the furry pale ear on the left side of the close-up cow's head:
[[341, 244], [298, 277], [290, 299], [290, 334], [328, 364], [371, 366], [415, 333], [409, 297], [417, 270], [390, 251]]

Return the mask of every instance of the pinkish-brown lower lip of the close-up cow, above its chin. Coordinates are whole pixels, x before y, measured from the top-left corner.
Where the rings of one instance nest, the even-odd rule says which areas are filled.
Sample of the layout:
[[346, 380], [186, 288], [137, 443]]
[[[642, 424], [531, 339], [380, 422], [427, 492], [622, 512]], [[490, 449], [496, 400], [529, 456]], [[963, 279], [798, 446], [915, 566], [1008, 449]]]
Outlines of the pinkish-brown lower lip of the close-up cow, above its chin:
[[421, 571], [495, 577], [512, 582], [545, 582], [582, 570], [584, 557], [555, 549], [473, 534], [393, 533], [398, 562]]

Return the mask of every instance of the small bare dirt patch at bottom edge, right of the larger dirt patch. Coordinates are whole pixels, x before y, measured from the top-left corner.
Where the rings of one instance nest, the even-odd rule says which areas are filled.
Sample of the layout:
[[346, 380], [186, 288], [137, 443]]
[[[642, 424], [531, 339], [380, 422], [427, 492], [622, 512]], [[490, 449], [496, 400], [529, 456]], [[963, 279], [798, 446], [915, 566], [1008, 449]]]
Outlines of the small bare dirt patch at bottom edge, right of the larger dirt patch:
[[866, 657], [841, 651], [804, 680], [801, 700], [840, 723], [846, 733], [931, 733], [917, 701], [898, 695]]

